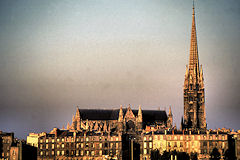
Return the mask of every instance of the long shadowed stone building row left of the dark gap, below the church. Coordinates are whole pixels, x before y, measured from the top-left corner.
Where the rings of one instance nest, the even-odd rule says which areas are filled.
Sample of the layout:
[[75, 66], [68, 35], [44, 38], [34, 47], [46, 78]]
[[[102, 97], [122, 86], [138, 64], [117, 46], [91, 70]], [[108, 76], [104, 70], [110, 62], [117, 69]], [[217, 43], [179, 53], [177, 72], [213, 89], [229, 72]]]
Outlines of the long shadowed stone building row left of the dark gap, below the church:
[[56, 129], [39, 138], [38, 159], [121, 159], [121, 134]]

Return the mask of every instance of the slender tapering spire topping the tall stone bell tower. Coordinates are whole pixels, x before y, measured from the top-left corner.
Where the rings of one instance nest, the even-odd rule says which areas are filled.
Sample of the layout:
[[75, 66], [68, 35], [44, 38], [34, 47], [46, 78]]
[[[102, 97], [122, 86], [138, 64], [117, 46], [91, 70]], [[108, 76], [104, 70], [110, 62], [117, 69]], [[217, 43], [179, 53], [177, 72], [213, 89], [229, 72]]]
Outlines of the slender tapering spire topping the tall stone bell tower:
[[[199, 60], [198, 60], [198, 46], [197, 46], [197, 32], [195, 22], [195, 8], [193, 1], [192, 9], [192, 33], [191, 33], [191, 45], [190, 45], [190, 56], [189, 56], [189, 73], [191, 75], [198, 76], [199, 74]], [[194, 78], [195, 78], [194, 76]]]

